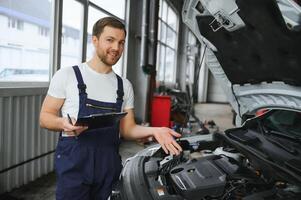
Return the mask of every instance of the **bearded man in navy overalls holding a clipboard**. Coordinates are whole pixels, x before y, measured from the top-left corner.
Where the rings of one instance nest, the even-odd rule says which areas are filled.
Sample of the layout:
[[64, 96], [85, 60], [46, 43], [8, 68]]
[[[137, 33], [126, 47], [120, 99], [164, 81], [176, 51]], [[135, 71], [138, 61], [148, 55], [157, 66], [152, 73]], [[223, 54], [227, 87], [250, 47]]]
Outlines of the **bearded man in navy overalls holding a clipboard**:
[[[92, 35], [93, 58], [79, 66], [60, 69], [54, 75], [40, 113], [42, 127], [62, 132], [55, 154], [57, 199], [110, 196], [122, 168], [118, 154], [119, 128], [124, 138], [152, 136], [166, 153], [177, 155], [182, 151], [174, 140], [180, 135], [173, 130], [135, 123], [132, 86], [112, 71], [124, 49], [124, 25], [112, 17], [102, 18], [93, 26]], [[72, 125], [78, 117], [120, 111], [127, 112], [120, 127], [87, 130]]]

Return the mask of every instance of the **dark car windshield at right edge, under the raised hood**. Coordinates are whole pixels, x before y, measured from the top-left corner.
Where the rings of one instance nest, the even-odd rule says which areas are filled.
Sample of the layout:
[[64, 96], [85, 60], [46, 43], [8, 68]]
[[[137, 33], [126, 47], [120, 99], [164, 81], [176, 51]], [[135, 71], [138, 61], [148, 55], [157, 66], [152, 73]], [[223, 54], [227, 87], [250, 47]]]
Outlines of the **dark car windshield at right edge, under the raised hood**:
[[263, 119], [265, 128], [288, 136], [301, 138], [301, 113], [288, 110], [275, 110]]

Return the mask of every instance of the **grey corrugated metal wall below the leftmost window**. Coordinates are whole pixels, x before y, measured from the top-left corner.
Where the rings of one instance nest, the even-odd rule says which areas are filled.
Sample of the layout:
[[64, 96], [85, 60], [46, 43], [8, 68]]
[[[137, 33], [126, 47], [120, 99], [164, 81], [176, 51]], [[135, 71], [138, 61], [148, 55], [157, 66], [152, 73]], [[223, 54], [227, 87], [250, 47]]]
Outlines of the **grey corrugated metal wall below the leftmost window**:
[[0, 92], [1, 194], [53, 171], [58, 134], [39, 126], [46, 88], [10, 92], [15, 94]]

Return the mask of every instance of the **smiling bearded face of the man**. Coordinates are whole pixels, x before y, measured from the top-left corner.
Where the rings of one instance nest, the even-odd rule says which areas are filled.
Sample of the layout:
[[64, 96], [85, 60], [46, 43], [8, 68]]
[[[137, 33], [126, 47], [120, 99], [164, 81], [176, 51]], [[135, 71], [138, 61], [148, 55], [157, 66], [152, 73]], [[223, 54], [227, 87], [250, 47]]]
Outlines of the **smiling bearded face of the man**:
[[105, 26], [102, 33], [92, 38], [96, 56], [108, 67], [116, 64], [122, 55], [125, 43], [125, 31]]

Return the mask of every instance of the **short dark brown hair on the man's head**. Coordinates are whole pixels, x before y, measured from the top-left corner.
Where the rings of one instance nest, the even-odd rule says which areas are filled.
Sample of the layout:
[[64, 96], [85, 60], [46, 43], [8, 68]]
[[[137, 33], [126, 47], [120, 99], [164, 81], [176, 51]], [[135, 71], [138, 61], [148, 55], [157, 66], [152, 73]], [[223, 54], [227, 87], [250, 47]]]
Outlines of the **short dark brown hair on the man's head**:
[[124, 33], [126, 35], [126, 30], [125, 30], [124, 24], [114, 17], [104, 17], [104, 18], [99, 19], [93, 26], [92, 35], [99, 37], [100, 34], [103, 32], [103, 29], [106, 26], [122, 29], [122, 30], [124, 30]]

